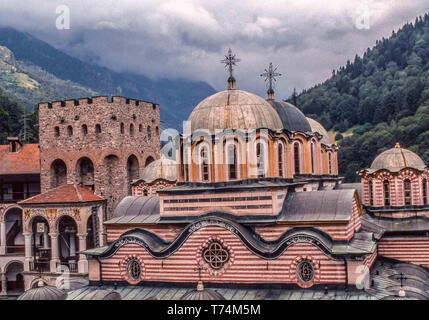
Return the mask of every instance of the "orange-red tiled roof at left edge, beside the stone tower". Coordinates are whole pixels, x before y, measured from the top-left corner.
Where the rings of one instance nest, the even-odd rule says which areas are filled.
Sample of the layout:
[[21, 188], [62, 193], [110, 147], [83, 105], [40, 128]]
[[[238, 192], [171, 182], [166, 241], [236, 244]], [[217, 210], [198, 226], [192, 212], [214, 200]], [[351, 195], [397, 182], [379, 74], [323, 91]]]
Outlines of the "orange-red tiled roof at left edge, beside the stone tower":
[[40, 173], [38, 144], [25, 144], [18, 152], [9, 152], [9, 145], [0, 145], [0, 175]]

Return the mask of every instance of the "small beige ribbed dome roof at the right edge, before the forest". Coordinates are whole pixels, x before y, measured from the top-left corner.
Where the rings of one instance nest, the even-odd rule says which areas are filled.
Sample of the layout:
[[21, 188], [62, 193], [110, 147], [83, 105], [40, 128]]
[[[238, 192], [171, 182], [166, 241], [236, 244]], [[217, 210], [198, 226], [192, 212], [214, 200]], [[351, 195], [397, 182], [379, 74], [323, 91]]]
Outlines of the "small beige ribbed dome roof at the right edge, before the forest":
[[380, 153], [372, 162], [370, 169], [372, 171], [387, 169], [391, 172], [398, 172], [403, 168], [423, 170], [426, 165], [417, 154], [401, 148], [397, 143], [394, 148]]

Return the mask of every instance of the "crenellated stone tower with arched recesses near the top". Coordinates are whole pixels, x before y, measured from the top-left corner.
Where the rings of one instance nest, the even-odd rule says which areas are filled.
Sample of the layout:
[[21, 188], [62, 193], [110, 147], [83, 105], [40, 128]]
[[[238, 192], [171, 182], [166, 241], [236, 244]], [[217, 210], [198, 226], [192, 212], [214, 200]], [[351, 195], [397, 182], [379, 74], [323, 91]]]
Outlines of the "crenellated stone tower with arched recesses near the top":
[[106, 96], [39, 104], [42, 192], [90, 187], [110, 218], [131, 182], [160, 155], [159, 105]]

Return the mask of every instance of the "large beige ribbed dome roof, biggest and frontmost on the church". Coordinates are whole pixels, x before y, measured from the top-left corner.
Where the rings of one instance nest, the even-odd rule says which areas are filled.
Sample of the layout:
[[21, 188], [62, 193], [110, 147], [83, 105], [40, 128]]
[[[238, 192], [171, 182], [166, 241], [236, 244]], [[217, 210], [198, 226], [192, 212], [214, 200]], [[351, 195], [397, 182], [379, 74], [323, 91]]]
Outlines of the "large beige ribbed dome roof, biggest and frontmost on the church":
[[189, 116], [192, 131], [206, 129], [282, 129], [274, 108], [261, 97], [242, 90], [225, 90], [201, 101]]

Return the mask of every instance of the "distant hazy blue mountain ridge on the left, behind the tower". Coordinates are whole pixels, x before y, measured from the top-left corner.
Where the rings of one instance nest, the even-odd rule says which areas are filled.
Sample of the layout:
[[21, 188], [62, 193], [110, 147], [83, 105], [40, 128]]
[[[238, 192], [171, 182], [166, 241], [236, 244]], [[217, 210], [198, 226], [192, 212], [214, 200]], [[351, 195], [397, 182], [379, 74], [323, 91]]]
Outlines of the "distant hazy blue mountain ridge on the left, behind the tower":
[[[29, 33], [10, 27], [0, 27], [0, 46], [9, 48], [17, 60], [29, 62], [58, 79], [76, 83], [97, 95], [121, 95], [158, 103], [164, 126], [176, 129], [198, 102], [215, 93], [215, 90], [203, 81], [154, 81], [144, 75], [115, 72], [92, 65], [69, 56]], [[63, 99], [58, 97], [57, 100]]]

